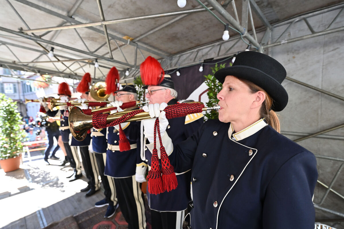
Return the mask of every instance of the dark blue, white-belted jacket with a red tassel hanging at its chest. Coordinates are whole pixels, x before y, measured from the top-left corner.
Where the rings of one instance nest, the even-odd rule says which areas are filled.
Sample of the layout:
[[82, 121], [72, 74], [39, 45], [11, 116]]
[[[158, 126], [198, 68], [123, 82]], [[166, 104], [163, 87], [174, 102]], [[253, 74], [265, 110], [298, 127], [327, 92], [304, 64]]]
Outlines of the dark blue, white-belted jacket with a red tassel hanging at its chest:
[[140, 157], [140, 125], [141, 121], [122, 123], [122, 130], [130, 143], [130, 150], [122, 152], [119, 151], [119, 127], [108, 127], [105, 175], [114, 178], [131, 177], [136, 173], [136, 166], [144, 164]]

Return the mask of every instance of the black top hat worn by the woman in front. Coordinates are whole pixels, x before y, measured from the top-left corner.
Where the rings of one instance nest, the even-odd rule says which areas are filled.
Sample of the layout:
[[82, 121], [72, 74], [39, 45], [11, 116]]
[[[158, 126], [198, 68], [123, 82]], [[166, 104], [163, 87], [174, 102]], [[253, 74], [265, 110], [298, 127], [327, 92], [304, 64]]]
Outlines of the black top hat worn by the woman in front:
[[263, 88], [273, 99], [272, 110], [281, 111], [288, 103], [288, 94], [281, 85], [286, 69], [272, 57], [252, 51], [239, 53], [233, 66], [218, 70], [215, 78], [223, 83], [226, 76], [247, 79]]

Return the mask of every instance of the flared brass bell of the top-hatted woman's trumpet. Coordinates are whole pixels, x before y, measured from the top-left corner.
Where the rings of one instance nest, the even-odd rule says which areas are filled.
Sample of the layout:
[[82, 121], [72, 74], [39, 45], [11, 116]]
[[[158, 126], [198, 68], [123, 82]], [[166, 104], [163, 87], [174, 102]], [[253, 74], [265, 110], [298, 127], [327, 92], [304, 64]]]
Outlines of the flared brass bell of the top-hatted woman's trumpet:
[[93, 127], [92, 116], [86, 115], [78, 107], [73, 107], [68, 116], [69, 129], [77, 141], [86, 138], [87, 131]]

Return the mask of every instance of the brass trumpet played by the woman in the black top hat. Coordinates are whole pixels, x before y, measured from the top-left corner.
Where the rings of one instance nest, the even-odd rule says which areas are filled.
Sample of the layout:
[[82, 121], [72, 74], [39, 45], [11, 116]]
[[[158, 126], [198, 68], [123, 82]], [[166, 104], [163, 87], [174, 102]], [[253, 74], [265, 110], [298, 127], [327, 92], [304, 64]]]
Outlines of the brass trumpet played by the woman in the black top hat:
[[[198, 102], [198, 103], [201, 103], [201, 102]], [[202, 108], [203, 111], [207, 111], [207, 110], [218, 111], [219, 109], [220, 109], [219, 105], [215, 107]], [[121, 111], [115, 114], [111, 114], [107, 117], [106, 122], [107, 123], [112, 122], [122, 117], [124, 114], [132, 112], [132, 111], [134, 110]], [[149, 112], [141, 112], [141, 113], [136, 114], [134, 117], [128, 119], [126, 122], [140, 121], [140, 120], [150, 119], [150, 118], [151, 117], [149, 115]], [[83, 141], [86, 138], [87, 131], [93, 127], [92, 115], [84, 114], [82, 110], [78, 107], [73, 107], [71, 109], [71, 111], [69, 112], [68, 122], [69, 122], [69, 129], [71, 130], [73, 137], [78, 141]]]

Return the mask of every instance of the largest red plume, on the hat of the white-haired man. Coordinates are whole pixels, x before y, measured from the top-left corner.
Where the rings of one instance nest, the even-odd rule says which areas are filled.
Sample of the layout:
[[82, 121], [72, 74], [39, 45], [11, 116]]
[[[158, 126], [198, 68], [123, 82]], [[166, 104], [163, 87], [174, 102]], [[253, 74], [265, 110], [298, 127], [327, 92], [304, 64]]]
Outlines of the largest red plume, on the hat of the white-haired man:
[[144, 85], [159, 85], [165, 75], [159, 61], [151, 56], [147, 57], [140, 65], [140, 73]]

